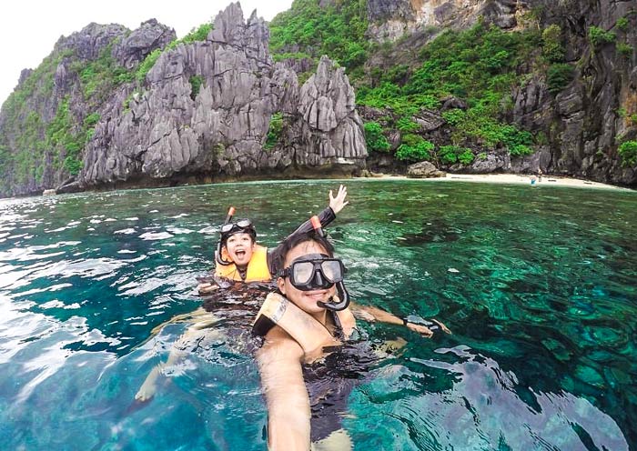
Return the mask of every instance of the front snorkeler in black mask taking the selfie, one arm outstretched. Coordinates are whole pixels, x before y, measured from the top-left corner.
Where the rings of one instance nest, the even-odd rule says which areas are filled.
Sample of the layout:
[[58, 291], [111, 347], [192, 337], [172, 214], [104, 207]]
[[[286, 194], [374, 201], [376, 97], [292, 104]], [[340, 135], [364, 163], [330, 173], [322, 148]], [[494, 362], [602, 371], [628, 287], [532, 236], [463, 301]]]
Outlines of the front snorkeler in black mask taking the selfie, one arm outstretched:
[[[310, 442], [327, 438], [339, 441], [334, 449], [349, 449], [349, 436], [342, 430], [339, 418], [352, 387], [351, 376], [349, 383], [347, 377], [344, 381], [337, 380], [334, 375], [338, 367], [325, 368], [328, 362], [325, 359], [359, 334], [355, 316], [404, 325], [427, 337], [433, 336], [434, 330], [450, 331], [437, 321], [427, 327], [379, 308], [349, 304], [349, 294], [343, 285], [345, 267], [320, 234], [298, 234], [286, 240], [281, 253], [284, 269], [277, 279], [278, 291], [268, 295], [253, 327], [256, 335], [265, 338], [257, 352], [257, 361], [268, 405], [268, 448], [307, 450]], [[327, 376], [322, 379], [327, 380], [315, 380], [318, 384], [310, 388], [308, 377], [316, 376], [308, 375], [321, 373], [314, 369], [319, 360], [324, 362], [322, 372]], [[339, 358], [333, 362], [336, 366], [343, 365]], [[313, 418], [310, 394], [317, 395], [317, 386], [319, 396], [312, 397], [325, 406]], [[326, 396], [336, 399], [325, 399]], [[326, 411], [332, 415], [328, 416]]]

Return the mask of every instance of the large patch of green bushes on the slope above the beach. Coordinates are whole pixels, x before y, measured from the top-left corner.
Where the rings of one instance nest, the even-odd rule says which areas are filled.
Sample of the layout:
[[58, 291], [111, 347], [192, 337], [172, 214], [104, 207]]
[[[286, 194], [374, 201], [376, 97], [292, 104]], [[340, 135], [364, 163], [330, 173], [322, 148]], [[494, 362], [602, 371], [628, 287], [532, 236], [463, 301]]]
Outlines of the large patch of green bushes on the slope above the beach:
[[420, 67], [400, 65], [370, 73], [371, 85], [359, 86], [357, 102], [393, 113], [394, 120], [388, 126], [403, 132], [396, 153], [400, 159], [433, 155], [432, 147], [419, 146], [410, 137], [420, 130], [413, 116], [423, 109], [440, 109], [440, 99], [450, 96], [467, 107], [442, 113], [452, 127], [452, 142], [451, 147], [440, 147], [441, 163], [470, 164], [473, 154], [456, 150], [467, 149], [470, 143], [487, 149], [506, 147], [511, 155], [528, 155], [532, 153], [532, 135], [517, 125], [502, 123], [500, 117], [510, 104], [512, 86], [522, 83], [518, 68], [532, 60], [537, 48], [543, 45], [542, 51], [548, 54], [545, 58], [563, 58], [560, 36], [559, 27], [543, 35], [539, 31], [505, 33], [482, 24], [461, 32], [446, 31], [421, 50]]

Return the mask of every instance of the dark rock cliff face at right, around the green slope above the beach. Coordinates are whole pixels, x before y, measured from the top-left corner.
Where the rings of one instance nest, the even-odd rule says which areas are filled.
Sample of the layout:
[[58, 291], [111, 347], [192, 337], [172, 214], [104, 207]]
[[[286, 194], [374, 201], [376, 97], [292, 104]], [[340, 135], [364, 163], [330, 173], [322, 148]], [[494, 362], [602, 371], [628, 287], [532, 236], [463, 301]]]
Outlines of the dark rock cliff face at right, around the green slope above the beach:
[[[634, 1], [369, 0], [368, 14], [369, 36], [396, 43], [389, 56], [371, 55], [367, 62], [368, 67], [383, 68], [399, 64], [416, 67], [420, 62], [413, 61], [414, 47], [426, 45], [446, 29], [467, 28], [478, 21], [504, 30], [545, 30], [557, 25], [565, 53], [562, 62], [573, 68], [571, 83], [561, 92], [551, 93], [546, 69], [529, 61], [519, 68], [520, 73], [528, 74], [528, 81], [512, 90], [514, 106], [506, 117], [544, 136], [545, 142], [537, 145], [531, 156], [489, 152], [470, 166], [445, 169], [486, 173], [536, 171], [541, 167], [545, 173], [637, 185], [637, 166], [626, 165], [618, 155], [622, 142], [637, 138]], [[592, 43], [593, 29], [611, 37]], [[366, 121], [387, 114], [369, 110], [361, 113]], [[429, 114], [440, 118], [438, 112]], [[422, 132], [437, 144], [448, 144], [451, 133], [442, 120]]]

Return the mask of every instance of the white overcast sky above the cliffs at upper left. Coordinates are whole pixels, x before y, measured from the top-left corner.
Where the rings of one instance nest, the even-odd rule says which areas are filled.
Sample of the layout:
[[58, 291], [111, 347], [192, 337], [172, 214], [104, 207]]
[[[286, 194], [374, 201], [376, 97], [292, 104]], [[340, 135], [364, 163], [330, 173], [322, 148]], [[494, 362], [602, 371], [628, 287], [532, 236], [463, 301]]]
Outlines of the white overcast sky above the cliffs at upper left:
[[[136, 29], [151, 18], [183, 37], [214, 18], [230, 0], [19, 0], [8, 1], [0, 13], [0, 104], [17, 85], [20, 72], [35, 69], [53, 51], [60, 36], [80, 31], [91, 22]], [[292, 0], [240, 0], [244, 17], [253, 10], [266, 20], [286, 11]]]

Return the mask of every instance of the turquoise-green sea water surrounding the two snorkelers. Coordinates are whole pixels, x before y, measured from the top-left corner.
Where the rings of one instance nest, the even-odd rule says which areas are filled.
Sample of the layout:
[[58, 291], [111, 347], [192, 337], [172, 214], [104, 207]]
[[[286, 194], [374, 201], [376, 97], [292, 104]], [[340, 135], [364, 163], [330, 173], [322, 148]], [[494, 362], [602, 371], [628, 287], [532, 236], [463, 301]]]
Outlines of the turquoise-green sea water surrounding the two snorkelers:
[[[435, 316], [341, 412], [354, 449], [637, 446], [637, 193], [347, 181], [330, 226], [361, 304]], [[228, 205], [273, 246], [338, 182], [0, 200], [0, 449], [265, 449], [258, 371], [212, 338], [133, 403], [194, 310]], [[415, 318], [415, 317], [414, 317]]]

